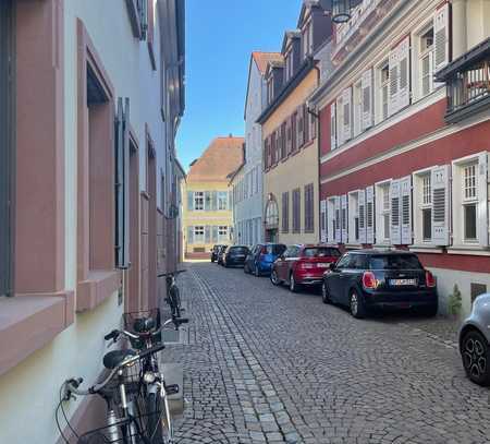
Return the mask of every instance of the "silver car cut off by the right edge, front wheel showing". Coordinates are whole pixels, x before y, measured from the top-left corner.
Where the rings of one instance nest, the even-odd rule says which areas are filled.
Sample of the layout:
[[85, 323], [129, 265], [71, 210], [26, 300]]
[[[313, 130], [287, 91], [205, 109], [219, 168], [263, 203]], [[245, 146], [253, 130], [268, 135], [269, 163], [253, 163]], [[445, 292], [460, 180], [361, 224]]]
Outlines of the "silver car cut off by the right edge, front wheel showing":
[[460, 329], [460, 352], [467, 376], [476, 384], [490, 385], [490, 293], [478, 296], [471, 313]]

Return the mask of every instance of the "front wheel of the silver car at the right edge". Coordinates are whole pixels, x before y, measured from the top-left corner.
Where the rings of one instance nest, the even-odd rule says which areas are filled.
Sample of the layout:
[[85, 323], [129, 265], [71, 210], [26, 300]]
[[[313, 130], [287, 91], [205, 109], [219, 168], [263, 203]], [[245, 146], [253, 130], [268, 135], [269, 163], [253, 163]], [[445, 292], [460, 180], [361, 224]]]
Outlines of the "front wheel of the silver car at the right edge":
[[477, 331], [468, 332], [462, 340], [461, 356], [468, 377], [476, 384], [490, 385], [488, 343]]

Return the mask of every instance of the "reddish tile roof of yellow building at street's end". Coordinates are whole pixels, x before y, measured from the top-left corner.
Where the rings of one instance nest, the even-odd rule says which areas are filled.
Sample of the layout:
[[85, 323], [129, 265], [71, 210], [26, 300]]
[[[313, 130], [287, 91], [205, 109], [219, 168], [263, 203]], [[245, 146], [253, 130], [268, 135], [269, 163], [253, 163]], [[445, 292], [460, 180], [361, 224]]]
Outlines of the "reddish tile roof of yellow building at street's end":
[[229, 181], [243, 161], [243, 137], [216, 137], [203, 155], [191, 166], [187, 182]]

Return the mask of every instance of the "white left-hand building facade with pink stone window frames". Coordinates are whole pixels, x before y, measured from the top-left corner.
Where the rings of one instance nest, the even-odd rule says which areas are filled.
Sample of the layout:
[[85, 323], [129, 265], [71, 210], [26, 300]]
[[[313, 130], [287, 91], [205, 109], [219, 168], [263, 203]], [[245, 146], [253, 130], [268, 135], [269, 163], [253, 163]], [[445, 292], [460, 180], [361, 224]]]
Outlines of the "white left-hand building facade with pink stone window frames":
[[[176, 257], [184, 5], [1, 2], [0, 164], [7, 153], [13, 171], [0, 175], [1, 443], [68, 442], [63, 382], [99, 381], [103, 336], [160, 304], [157, 273]], [[78, 434], [103, 425], [95, 396], [63, 408]]]

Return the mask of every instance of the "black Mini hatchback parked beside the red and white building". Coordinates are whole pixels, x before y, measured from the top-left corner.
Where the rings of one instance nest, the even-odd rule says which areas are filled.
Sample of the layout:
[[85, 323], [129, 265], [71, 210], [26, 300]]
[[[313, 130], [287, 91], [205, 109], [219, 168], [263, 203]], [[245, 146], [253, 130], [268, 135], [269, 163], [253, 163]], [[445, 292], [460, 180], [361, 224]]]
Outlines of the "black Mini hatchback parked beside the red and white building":
[[364, 317], [370, 309], [438, 312], [436, 279], [417, 255], [405, 251], [359, 250], [345, 253], [323, 275], [322, 299]]

